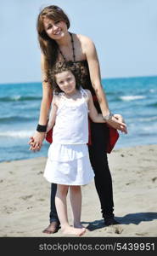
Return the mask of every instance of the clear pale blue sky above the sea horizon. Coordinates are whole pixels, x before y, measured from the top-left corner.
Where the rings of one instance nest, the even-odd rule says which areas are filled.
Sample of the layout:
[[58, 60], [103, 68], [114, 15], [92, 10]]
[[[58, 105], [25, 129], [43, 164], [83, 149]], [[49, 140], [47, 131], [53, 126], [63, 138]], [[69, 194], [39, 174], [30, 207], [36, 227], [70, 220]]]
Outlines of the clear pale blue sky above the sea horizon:
[[93, 40], [102, 79], [157, 75], [156, 0], [1, 0], [0, 84], [41, 82], [36, 18], [51, 4]]

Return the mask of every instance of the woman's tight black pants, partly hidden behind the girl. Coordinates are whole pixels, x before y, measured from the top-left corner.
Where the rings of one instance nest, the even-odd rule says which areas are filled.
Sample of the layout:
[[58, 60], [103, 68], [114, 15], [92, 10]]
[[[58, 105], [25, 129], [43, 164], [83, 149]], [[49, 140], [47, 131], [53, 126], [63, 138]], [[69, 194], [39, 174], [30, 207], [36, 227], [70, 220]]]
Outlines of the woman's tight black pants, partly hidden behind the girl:
[[[105, 153], [109, 130], [104, 124], [91, 122], [91, 134], [92, 145], [88, 146], [89, 157], [95, 173], [95, 187], [100, 200], [101, 212], [103, 218], [114, 217], [112, 178], [109, 172], [107, 154]], [[50, 222], [59, 221], [54, 201], [56, 190], [57, 184], [52, 183]]]

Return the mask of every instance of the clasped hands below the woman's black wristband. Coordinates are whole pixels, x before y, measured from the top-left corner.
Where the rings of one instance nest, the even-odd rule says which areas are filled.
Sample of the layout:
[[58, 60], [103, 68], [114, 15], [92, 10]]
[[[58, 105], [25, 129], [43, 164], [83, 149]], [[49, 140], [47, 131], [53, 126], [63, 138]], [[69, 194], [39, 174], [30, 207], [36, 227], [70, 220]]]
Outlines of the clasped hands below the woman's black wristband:
[[29, 145], [31, 147], [29, 150], [32, 150], [34, 152], [39, 151], [42, 147], [42, 142], [45, 138], [45, 132], [38, 132], [36, 131], [33, 137], [30, 137]]

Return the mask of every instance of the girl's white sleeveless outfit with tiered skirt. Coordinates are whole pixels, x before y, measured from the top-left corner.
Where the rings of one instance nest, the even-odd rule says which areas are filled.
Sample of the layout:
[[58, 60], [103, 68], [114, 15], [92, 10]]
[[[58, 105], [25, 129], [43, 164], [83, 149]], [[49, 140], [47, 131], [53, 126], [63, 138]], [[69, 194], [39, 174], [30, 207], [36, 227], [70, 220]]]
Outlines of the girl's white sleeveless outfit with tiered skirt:
[[53, 126], [53, 143], [48, 149], [44, 177], [50, 183], [85, 185], [93, 180], [89, 160], [87, 92], [81, 88], [76, 102], [58, 97], [59, 108]]

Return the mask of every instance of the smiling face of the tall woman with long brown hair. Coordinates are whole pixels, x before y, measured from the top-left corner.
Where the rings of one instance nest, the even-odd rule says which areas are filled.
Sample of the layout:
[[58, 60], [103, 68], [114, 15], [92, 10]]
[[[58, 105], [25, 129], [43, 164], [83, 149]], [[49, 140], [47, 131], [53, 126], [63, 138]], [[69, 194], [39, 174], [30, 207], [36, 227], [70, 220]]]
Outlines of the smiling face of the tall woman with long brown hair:
[[44, 18], [43, 26], [45, 28], [45, 32], [48, 34], [49, 38], [53, 40], [63, 38], [64, 35], [68, 32], [67, 25], [62, 20], [51, 20], [48, 18]]

